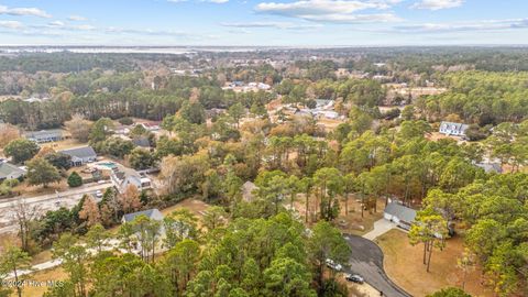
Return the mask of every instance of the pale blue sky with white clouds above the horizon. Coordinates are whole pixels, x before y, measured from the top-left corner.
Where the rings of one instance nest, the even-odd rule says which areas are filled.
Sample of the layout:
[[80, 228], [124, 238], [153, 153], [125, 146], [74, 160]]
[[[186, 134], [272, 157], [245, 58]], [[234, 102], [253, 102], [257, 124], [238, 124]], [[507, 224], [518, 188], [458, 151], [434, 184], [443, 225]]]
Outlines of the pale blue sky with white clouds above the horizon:
[[0, 0], [0, 45], [528, 44], [527, 0]]

